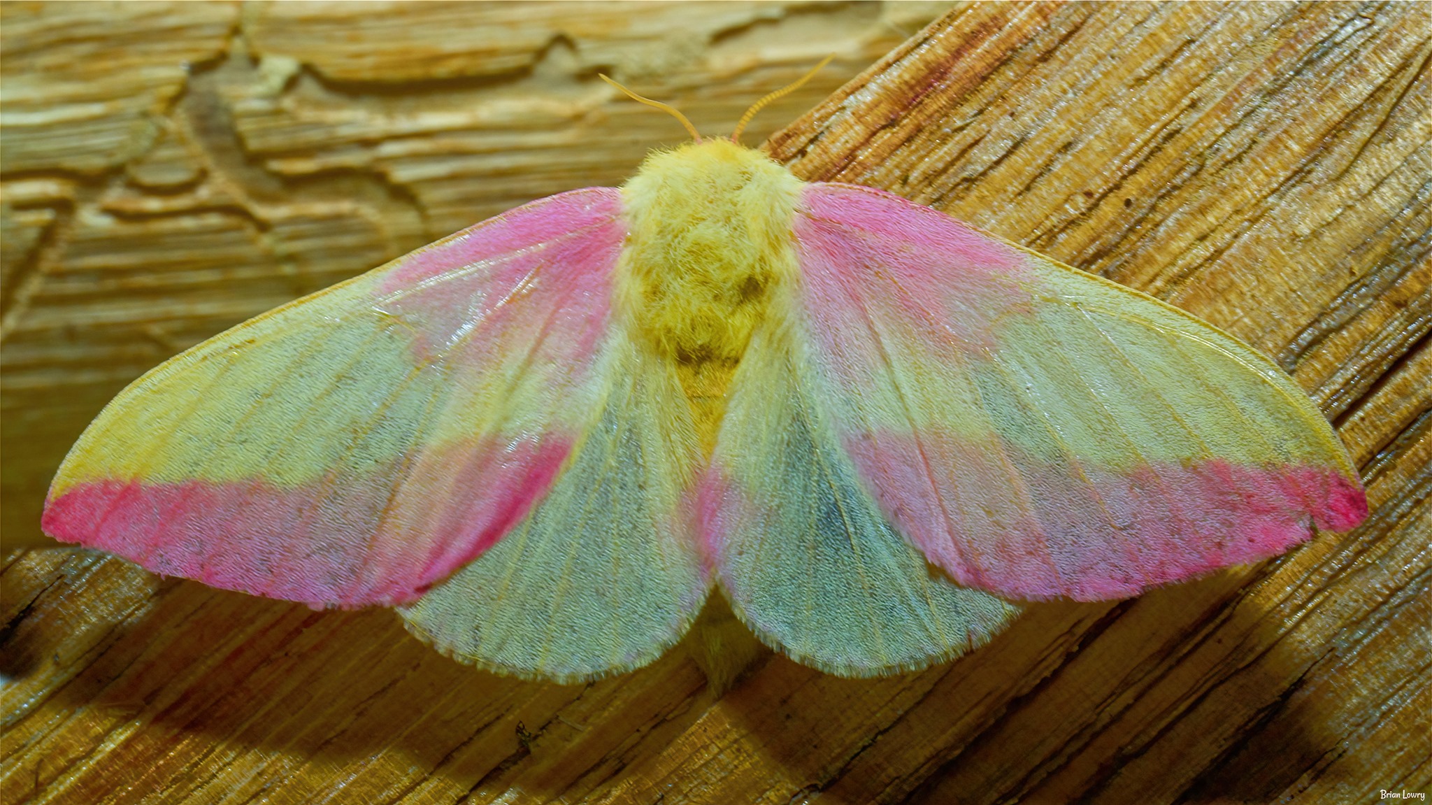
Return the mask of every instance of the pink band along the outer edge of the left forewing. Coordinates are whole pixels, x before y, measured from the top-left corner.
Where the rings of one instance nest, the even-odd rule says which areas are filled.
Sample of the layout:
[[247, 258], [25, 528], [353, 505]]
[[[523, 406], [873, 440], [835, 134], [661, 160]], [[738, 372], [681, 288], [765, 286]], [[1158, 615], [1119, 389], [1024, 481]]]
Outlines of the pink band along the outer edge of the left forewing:
[[546, 438], [450, 450], [451, 503], [407, 506], [407, 517], [384, 510], [401, 481], [395, 461], [326, 488], [86, 483], [50, 503], [44, 530], [211, 587], [315, 606], [391, 606], [495, 544], [547, 491], [570, 447]]

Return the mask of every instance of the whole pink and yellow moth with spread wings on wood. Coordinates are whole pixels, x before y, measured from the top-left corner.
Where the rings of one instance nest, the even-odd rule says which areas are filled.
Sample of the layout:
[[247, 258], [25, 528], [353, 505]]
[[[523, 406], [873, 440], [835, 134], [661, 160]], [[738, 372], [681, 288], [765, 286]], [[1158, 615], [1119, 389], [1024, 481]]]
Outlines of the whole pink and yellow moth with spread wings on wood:
[[1008, 599], [1134, 596], [1366, 511], [1319, 410], [1232, 335], [696, 136], [152, 370], [43, 526], [580, 680], [710, 594], [799, 662], [918, 669]]

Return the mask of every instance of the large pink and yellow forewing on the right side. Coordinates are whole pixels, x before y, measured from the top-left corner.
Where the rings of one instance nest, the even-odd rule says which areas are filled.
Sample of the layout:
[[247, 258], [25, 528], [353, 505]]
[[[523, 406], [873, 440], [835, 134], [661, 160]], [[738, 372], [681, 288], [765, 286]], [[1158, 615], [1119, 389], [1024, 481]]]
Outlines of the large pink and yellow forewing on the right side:
[[809, 185], [793, 371], [889, 521], [961, 584], [1137, 594], [1346, 530], [1346, 450], [1270, 360], [898, 196]]

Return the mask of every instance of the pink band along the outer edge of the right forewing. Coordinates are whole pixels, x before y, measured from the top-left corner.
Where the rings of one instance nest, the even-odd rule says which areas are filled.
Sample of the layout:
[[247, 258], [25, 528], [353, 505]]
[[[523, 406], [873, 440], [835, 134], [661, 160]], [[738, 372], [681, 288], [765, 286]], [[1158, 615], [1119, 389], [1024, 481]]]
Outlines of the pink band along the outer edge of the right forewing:
[[[1330, 467], [1211, 460], [1114, 473], [934, 433], [849, 440], [846, 450], [931, 561], [961, 584], [1018, 599], [1136, 596], [1277, 556], [1309, 539], [1309, 520], [1342, 531], [1368, 516], [1362, 488]], [[1011, 470], [1027, 506], [1004, 481]]]

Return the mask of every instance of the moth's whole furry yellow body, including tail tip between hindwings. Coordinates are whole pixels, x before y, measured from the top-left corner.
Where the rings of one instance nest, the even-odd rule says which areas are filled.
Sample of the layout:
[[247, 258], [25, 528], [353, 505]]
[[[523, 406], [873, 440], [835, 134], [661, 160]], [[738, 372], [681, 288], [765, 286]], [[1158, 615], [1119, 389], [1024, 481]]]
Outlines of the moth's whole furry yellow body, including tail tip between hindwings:
[[[653, 152], [621, 188], [629, 233], [617, 311], [646, 348], [674, 362], [703, 455], [716, 447], [726, 387], [772, 289], [795, 276], [799, 192], [785, 166], [725, 139]], [[686, 646], [713, 696], [763, 652], [722, 596], [706, 602]]]

